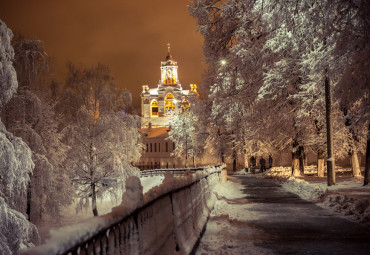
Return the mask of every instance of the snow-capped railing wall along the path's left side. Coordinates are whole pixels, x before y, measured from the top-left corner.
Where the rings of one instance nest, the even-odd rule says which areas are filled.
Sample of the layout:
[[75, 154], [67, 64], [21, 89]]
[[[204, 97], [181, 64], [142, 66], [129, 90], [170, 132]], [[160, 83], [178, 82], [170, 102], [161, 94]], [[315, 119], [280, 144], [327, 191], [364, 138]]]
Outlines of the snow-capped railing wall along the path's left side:
[[22, 255], [41, 254], [189, 254], [214, 205], [213, 186], [224, 166], [203, 168], [183, 177], [164, 173], [162, 185], [142, 194], [130, 177], [122, 204], [89, 222], [62, 227]]

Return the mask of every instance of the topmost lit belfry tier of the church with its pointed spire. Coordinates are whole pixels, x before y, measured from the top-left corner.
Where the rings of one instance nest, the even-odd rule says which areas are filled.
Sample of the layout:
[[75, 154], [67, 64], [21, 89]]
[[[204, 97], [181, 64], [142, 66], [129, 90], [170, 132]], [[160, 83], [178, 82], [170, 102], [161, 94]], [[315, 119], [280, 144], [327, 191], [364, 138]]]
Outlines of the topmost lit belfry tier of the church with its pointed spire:
[[177, 62], [172, 59], [171, 45], [168, 43], [168, 53], [166, 60], [161, 62], [161, 85], [177, 85], [179, 83], [177, 75]]

